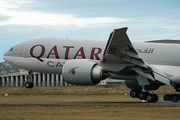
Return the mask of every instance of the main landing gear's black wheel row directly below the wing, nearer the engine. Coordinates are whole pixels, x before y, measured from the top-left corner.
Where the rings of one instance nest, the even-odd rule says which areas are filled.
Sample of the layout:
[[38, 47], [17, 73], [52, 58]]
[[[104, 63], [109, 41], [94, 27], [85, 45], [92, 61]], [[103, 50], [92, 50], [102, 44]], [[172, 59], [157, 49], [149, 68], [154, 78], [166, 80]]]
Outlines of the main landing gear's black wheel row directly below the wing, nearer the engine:
[[157, 102], [159, 99], [157, 94], [150, 94], [148, 91], [144, 92], [141, 90], [131, 90], [130, 96], [140, 100], [147, 100], [147, 102]]

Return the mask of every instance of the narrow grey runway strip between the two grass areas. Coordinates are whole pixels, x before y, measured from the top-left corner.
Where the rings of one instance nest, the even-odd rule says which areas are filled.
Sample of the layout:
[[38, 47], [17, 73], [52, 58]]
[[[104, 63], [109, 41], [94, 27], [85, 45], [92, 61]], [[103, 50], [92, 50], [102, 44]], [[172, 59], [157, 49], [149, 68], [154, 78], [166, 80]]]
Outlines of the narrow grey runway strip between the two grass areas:
[[148, 102], [0, 102], [0, 104], [132, 104], [132, 105], [180, 105], [180, 102], [159, 101], [156, 103]]

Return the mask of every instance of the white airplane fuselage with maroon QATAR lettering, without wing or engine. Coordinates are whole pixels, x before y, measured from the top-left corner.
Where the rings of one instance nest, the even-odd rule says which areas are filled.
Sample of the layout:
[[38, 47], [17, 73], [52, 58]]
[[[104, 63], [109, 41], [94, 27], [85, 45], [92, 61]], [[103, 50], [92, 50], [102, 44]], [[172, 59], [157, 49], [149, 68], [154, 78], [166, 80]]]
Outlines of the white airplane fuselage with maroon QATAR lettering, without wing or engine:
[[[3, 58], [22, 69], [61, 74], [69, 59], [100, 61], [106, 44], [104, 40], [37, 39], [13, 46]], [[133, 47], [147, 64], [167, 73], [172, 83], [180, 84], [180, 45], [133, 43]]]

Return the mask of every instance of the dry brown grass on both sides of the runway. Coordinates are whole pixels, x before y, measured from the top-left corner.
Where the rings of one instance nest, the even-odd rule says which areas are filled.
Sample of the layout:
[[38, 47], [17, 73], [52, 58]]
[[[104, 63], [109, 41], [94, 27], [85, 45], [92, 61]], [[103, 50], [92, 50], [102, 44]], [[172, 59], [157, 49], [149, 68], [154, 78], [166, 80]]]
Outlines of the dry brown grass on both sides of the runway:
[[[124, 85], [72, 87], [1, 87], [0, 102], [7, 101], [104, 101], [139, 102]], [[155, 91], [160, 100], [174, 93], [167, 86]], [[5, 96], [8, 94], [8, 96]], [[55, 104], [0, 105], [0, 120], [179, 120], [180, 106], [155, 104]]]

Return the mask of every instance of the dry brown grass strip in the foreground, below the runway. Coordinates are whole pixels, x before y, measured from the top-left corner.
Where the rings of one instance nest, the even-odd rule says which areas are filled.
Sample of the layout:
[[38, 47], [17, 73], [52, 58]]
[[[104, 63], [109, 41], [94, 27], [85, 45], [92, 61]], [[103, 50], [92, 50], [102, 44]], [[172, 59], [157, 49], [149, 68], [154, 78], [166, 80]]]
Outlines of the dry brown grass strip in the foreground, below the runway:
[[1, 120], [179, 120], [179, 106], [66, 104], [1, 105]]

